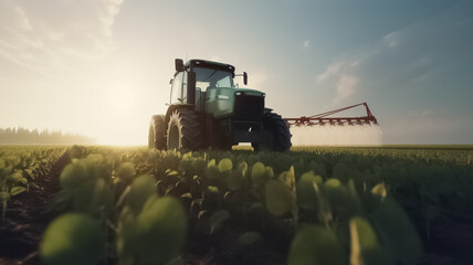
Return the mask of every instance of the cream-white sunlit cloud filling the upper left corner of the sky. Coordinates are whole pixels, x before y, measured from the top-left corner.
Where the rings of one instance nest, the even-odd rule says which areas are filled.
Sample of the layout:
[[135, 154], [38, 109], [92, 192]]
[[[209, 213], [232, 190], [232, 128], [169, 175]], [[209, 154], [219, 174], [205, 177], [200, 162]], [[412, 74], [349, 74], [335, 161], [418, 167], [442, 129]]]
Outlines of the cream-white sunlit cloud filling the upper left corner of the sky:
[[43, 76], [74, 72], [114, 47], [123, 0], [0, 1], [0, 70], [15, 64]]

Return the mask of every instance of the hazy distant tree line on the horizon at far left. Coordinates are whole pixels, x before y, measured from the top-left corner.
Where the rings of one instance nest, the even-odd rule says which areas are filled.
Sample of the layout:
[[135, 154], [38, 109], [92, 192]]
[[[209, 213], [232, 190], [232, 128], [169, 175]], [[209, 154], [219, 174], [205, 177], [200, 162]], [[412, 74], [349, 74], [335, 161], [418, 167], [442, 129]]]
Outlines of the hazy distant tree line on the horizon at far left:
[[78, 134], [61, 130], [29, 130], [22, 127], [0, 128], [0, 145], [95, 145], [96, 140]]

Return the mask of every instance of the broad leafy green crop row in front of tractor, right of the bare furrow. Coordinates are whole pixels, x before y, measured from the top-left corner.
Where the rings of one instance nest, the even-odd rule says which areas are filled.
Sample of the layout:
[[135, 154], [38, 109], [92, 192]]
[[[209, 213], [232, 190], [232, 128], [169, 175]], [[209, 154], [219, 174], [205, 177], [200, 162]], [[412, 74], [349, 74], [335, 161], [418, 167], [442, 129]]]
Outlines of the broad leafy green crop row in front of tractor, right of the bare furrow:
[[429, 234], [419, 220], [473, 195], [469, 163], [369, 151], [71, 152], [56, 200], [71, 212], [45, 231], [46, 264], [177, 263], [210, 247], [225, 264], [254, 248], [288, 264], [417, 264]]

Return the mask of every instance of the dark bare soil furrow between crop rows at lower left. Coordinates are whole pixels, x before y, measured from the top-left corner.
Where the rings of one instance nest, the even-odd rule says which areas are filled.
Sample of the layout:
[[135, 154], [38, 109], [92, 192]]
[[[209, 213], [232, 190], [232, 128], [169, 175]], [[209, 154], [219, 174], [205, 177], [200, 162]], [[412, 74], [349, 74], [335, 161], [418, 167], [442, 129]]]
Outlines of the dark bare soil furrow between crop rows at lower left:
[[65, 152], [49, 173], [36, 176], [30, 191], [14, 197], [0, 219], [0, 264], [40, 264], [38, 248], [46, 225], [61, 213], [53, 209], [55, 194], [61, 190], [60, 174], [71, 162]]

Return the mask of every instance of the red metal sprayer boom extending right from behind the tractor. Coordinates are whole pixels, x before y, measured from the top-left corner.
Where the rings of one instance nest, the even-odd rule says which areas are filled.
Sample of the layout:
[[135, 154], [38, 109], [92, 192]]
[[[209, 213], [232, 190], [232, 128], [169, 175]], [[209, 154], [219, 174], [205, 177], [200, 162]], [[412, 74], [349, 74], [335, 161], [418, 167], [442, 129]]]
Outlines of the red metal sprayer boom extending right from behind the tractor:
[[[364, 105], [366, 107], [366, 116], [361, 117], [327, 117], [354, 107]], [[378, 125], [378, 120], [372, 116], [367, 103], [356, 104], [349, 107], [338, 108], [335, 110], [316, 114], [313, 116], [302, 116], [301, 118], [284, 118], [290, 126], [325, 126], [325, 125]]]

